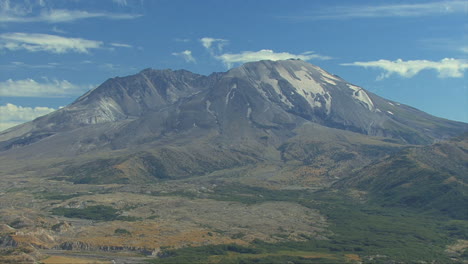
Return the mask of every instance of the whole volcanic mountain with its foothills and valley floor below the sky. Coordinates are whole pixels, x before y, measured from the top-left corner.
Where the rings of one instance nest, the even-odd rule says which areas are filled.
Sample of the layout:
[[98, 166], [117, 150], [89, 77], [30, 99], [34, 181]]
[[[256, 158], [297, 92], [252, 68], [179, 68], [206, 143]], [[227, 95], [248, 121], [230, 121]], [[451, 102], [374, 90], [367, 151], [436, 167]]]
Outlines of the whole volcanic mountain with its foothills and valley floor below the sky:
[[0, 262], [461, 263], [467, 131], [301, 60], [112, 78], [0, 132]]

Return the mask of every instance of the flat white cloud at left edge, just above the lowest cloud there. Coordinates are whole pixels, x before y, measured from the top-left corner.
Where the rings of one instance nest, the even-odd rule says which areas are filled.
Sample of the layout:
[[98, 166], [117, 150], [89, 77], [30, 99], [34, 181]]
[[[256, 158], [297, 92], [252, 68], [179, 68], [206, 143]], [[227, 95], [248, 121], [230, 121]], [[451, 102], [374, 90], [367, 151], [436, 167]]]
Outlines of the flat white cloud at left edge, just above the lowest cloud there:
[[66, 97], [81, 95], [93, 86], [79, 86], [67, 80], [48, 80], [37, 82], [33, 79], [12, 79], [0, 82], [0, 96], [3, 97]]

